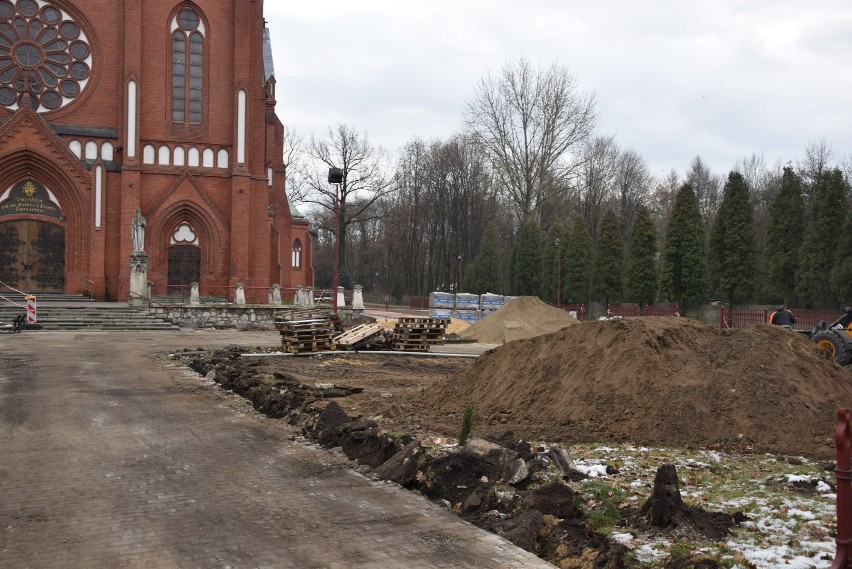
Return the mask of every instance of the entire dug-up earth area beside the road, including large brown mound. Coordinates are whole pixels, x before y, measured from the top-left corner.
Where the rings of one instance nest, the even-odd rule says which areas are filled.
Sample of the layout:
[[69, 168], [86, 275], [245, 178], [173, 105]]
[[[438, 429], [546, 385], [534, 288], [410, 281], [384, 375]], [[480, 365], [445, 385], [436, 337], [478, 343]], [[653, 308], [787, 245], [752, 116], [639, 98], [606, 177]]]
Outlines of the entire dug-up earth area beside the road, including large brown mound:
[[[719, 487], [713, 490], [719, 494], [715, 508], [693, 491], [701, 496], [698, 503], [686, 498], [667, 527], [651, 528], [650, 510], [656, 508], [647, 472], [644, 482], [633, 481], [630, 488], [577, 486], [631, 470], [627, 459], [610, 459], [597, 469], [580, 459], [590, 449], [620, 446], [643, 456], [649, 448], [684, 449], [704, 458], [680, 460], [660, 451], [660, 461], [717, 478], [732, 472], [716, 464], [720, 456], [796, 457], [772, 461], [782, 470], [788, 464], [810, 469], [797, 479], [807, 479], [804, 491], [815, 495], [820, 487], [830, 493], [830, 478], [820, 473], [834, 456], [836, 410], [852, 402], [852, 383], [848, 372], [788, 330], [719, 331], [685, 318], [646, 317], [574, 322], [510, 341], [476, 360], [250, 357], [248, 351], [174, 357], [262, 412], [301, 426], [324, 446], [342, 449], [365, 472], [442, 501], [558, 567], [718, 567], [723, 561], [738, 567], [828, 566], [824, 543], [795, 554], [784, 545], [779, 559], [792, 557], [799, 565], [766, 564], [763, 553], [747, 558], [732, 552], [732, 526], [766, 523], [749, 521], [738, 508], [750, 502], [723, 499]], [[468, 405], [473, 434], [490, 442], [459, 452], [454, 442]], [[658, 466], [663, 464], [644, 468]], [[768, 475], [765, 468], [750, 467], [741, 476], [759, 478], [764, 490], [780, 485], [772, 480], [783, 475]], [[705, 474], [693, 472], [684, 480]], [[786, 507], [794, 503], [790, 499]], [[825, 515], [825, 501], [820, 504], [815, 507]], [[825, 533], [827, 525], [808, 529]], [[623, 545], [643, 535], [663, 543], [668, 557], [638, 555], [647, 543]], [[728, 545], [708, 557], [707, 547], [694, 545], [708, 541]], [[769, 547], [776, 544], [765, 538], [758, 551]]]

